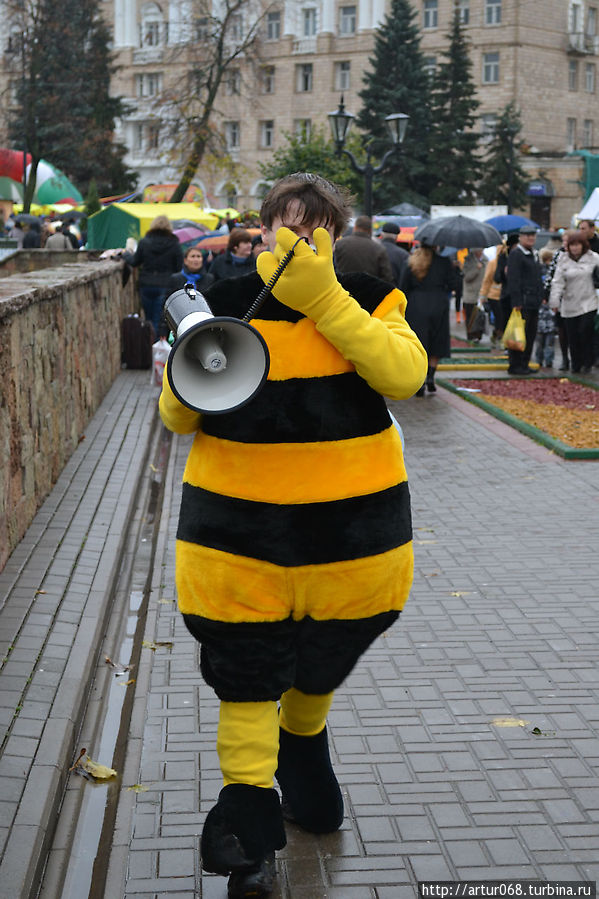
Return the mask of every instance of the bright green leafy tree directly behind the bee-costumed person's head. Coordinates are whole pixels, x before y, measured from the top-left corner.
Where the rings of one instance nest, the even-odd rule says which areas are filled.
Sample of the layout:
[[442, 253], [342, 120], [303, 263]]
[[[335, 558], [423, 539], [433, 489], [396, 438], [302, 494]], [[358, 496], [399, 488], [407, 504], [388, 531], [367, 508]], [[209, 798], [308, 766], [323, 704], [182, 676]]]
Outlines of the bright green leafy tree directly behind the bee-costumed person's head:
[[[318, 172], [323, 178], [347, 187], [352, 193], [362, 191], [362, 179], [348, 166], [344, 157], [335, 154], [335, 144], [328, 139], [323, 128], [314, 128], [309, 137], [285, 133], [286, 143], [272, 155], [269, 162], [260, 163], [260, 171], [266, 181], [276, 181], [291, 172]], [[354, 138], [348, 147], [355, 147]]]

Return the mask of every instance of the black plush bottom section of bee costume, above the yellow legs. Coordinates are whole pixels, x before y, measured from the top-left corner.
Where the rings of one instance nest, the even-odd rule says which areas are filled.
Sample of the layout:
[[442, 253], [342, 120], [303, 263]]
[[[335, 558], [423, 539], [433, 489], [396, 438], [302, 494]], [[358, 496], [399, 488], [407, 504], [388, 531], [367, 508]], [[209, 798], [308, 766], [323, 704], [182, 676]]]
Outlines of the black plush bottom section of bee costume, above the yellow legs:
[[225, 702], [277, 701], [296, 687], [325, 694], [347, 677], [362, 653], [397, 619], [399, 612], [344, 621], [226, 624], [199, 615], [184, 615], [202, 644], [206, 682]]

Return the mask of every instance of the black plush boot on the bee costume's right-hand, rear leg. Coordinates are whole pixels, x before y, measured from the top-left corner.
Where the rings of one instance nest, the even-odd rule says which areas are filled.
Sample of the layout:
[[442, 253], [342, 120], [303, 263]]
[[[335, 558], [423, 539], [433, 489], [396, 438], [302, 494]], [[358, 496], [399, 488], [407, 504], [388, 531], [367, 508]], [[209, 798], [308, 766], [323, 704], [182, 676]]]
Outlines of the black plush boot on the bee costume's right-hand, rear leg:
[[315, 737], [279, 731], [275, 777], [283, 794], [283, 814], [311, 833], [332, 833], [343, 822], [343, 797], [331, 765], [326, 727]]

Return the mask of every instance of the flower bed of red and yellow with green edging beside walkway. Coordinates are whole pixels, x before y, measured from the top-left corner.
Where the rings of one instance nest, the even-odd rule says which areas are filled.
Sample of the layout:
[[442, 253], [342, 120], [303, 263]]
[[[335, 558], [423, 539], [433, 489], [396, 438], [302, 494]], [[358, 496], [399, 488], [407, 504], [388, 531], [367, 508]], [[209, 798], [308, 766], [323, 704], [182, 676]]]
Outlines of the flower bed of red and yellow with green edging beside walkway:
[[570, 378], [439, 381], [566, 459], [599, 458], [599, 391]]

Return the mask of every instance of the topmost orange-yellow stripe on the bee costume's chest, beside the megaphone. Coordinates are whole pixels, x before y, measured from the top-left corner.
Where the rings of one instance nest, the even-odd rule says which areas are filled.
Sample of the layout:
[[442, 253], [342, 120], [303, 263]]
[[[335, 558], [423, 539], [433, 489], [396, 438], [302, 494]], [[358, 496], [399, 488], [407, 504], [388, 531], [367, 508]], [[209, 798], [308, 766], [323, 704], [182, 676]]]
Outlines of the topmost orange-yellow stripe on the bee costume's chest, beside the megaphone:
[[296, 323], [253, 319], [251, 324], [268, 344], [270, 381], [325, 377], [354, 370], [351, 362], [347, 362], [318, 333], [309, 318], [302, 318]]

